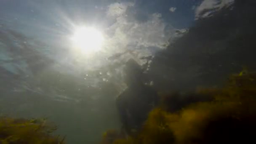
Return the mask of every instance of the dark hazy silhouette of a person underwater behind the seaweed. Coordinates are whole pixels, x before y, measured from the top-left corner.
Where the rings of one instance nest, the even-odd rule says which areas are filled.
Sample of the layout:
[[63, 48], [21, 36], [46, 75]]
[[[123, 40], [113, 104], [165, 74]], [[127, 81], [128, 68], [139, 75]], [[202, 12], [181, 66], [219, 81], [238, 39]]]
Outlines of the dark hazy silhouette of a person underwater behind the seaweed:
[[128, 87], [117, 97], [116, 104], [122, 123], [121, 131], [133, 135], [141, 128], [148, 113], [157, 103], [157, 92], [144, 85], [143, 70], [136, 61], [127, 61], [124, 70]]

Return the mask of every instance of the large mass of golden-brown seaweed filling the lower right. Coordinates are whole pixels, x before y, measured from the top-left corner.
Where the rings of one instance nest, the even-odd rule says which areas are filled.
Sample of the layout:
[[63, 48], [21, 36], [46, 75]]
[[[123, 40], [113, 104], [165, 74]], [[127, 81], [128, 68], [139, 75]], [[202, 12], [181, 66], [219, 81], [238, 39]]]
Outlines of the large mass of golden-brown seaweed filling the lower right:
[[223, 88], [200, 88], [194, 95], [213, 99], [194, 102], [176, 112], [161, 103], [149, 113], [136, 136], [116, 139], [113, 144], [256, 142], [256, 73], [231, 75]]

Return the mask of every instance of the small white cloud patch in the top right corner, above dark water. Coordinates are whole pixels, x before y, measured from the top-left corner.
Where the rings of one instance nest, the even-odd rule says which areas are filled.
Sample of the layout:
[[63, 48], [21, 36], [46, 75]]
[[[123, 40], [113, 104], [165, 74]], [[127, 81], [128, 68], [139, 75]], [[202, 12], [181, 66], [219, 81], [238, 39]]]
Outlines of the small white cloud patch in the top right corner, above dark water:
[[221, 8], [228, 7], [234, 3], [235, 0], [204, 0], [195, 9], [195, 19], [209, 17], [214, 11], [219, 11]]

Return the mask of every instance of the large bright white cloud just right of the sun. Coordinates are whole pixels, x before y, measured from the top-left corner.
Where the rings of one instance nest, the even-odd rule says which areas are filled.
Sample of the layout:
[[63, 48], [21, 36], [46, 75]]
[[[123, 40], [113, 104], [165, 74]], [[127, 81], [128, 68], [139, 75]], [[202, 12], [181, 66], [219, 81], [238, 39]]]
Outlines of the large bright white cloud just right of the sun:
[[[146, 60], [139, 59], [143, 56], [151, 56], [155, 51], [165, 48], [171, 37], [171, 25], [162, 20], [160, 13], [153, 13], [146, 21], [136, 20], [134, 13], [128, 13], [127, 9], [133, 7], [133, 3], [113, 3], [108, 6], [107, 15], [115, 17], [115, 23], [107, 29], [106, 52], [126, 53], [123, 59], [133, 58], [139, 64]], [[136, 13], [135, 13], [136, 14]], [[173, 30], [174, 31], [174, 30]]]

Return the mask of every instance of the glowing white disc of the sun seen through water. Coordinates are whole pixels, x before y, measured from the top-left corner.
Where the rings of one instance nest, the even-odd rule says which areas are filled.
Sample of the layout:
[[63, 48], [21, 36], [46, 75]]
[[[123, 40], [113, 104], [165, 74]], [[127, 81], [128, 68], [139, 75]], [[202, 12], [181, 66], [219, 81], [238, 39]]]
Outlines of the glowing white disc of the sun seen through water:
[[71, 40], [75, 48], [84, 53], [93, 53], [101, 50], [104, 37], [93, 27], [77, 27]]

